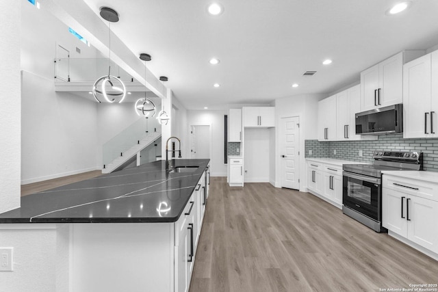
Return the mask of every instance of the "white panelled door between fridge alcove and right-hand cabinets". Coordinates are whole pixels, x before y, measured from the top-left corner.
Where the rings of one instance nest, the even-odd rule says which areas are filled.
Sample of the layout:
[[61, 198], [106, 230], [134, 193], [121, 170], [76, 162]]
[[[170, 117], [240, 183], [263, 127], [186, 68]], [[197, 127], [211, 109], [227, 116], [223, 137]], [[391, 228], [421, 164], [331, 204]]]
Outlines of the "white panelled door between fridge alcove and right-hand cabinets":
[[282, 118], [280, 125], [281, 187], [300, 189], [299, 117]]

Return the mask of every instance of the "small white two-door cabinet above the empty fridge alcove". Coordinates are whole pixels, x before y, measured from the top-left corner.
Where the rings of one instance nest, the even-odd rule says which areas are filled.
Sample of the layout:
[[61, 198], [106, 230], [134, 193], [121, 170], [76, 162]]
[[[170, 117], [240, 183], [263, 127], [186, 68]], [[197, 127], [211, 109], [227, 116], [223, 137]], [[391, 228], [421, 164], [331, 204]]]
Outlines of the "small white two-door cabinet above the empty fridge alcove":
[[242, 107], [244, 127], [275, 127], [275, 107]]

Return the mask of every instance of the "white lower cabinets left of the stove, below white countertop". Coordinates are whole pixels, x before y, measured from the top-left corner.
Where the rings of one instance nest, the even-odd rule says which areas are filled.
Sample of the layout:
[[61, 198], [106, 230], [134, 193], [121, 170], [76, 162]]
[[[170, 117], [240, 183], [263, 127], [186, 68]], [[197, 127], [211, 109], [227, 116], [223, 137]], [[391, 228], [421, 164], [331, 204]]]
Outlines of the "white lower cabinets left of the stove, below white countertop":
[[342, 166], [307, 162], [307, 189], [312, 194], [342, 208]]

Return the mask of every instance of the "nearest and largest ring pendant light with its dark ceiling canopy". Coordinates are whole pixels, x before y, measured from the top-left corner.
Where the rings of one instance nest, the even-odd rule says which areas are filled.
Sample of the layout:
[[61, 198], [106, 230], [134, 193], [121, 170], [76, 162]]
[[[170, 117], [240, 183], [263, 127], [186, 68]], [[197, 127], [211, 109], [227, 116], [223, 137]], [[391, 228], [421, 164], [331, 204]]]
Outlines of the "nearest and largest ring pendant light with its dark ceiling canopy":
[[125, 84], [115, 76], [111, 75], [111, 23], [118, 22], [118, 13], [112, 8], [101, 8], [101, 16], [105, 21], [108, 21], [108, 31], [110, 34], [110, 55], [108, 57], [108, 75], [102, 76], [94, 82], [92, 94], [98, 103], [105, 98], [108, 103], [122, 103], [126, 96]]

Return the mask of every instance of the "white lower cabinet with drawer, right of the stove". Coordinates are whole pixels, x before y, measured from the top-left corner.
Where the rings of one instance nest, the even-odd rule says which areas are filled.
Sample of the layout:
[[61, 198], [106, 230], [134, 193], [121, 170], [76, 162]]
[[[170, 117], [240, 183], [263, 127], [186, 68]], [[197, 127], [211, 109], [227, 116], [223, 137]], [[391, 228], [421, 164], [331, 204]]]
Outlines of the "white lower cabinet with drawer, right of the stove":
[[438, 185], [384, 174], [383, 227], [438, 254], [436, 191]]

